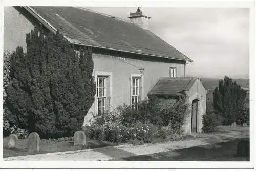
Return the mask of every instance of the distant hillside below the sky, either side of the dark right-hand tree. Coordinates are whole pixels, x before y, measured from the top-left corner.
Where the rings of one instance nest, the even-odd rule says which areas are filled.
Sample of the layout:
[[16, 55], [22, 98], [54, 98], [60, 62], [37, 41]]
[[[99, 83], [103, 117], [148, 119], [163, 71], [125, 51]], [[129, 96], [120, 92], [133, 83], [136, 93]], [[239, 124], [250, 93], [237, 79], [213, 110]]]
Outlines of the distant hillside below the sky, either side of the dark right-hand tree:
[[[200, 78], [208, 91], [214, 91], [218, 87], [220, 79], [211, 79], [211, 78]], [[249, 88], [249, 79], [232, 79], [236, 81], [241, 87]]]

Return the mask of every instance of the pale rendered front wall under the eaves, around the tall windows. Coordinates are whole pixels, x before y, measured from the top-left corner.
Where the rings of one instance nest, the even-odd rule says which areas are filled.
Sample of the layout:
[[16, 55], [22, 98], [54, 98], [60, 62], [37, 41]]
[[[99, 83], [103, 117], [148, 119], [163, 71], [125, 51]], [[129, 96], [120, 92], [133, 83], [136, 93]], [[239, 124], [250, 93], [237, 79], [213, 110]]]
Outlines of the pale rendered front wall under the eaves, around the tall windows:
[[[136, 56], [136, 55], [135, 55]], [[139, 59], [131, 59], [127, 57], [118, 57], [111, 55], [93, 54], [94, 72], [111, 72], [112, 73], [112, 104], [111, 109], [118, 105], [131, 104], [131, 74], [140, 74], [139, 68], [145, 68], [143, 75], [143, 93], [142, 96], [147, 97], [147, 93], [153, 88], [160, 77], [169, 77], [169, 68], [177, 68], [177, 77], [184, 77], [184, 64], [161, 62], [161, 59], [154, 58], [155, 61], [146, 61]], [[93, 116], [96, 116], [95, 103], [92, 105], [87, 116], [84, 118], [84, 124], [90, 123]]]

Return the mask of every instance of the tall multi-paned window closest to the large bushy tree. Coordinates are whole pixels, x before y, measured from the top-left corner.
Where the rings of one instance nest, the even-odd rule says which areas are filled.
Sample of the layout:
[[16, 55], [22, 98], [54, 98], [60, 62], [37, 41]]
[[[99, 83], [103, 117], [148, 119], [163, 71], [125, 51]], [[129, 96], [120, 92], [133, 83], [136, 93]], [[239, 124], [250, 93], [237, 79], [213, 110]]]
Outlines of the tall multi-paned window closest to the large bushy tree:
[[97, 77], [97, 111], [98, 116], [106, 111], [106, 76]]

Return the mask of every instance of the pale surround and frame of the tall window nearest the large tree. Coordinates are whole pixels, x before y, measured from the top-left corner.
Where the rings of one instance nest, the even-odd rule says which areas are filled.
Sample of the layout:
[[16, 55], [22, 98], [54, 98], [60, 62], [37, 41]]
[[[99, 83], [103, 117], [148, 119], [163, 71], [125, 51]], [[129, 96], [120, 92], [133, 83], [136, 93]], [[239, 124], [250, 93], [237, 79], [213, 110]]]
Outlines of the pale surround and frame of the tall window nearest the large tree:
[[[96, 94], [95, 94], [95, 113], [97, 116], [98, 115], [98, 98], [105, 98], [105, 111], [106, 111], [106, 108], [107, 108], [107, 101], [109, 100], [108, 97], [110, 97], [110, 110], [111, 110], [111, 107], [112, 107], [112, 72], [104, 72], [104, 71], [95, 71], [95, 83], [96, 83]], [[103, 97], [98, 97], [98, 77], [105, 77], [106, 79], [109, 79], [109, 86], [106, 85], [106, 79], [105, 79], [105, 93], [108, 91], [107, 89], [109, 88], [109, 96], [107, 96], [107, 94]], [[100, 116], [99, 116], [100, 117]]]

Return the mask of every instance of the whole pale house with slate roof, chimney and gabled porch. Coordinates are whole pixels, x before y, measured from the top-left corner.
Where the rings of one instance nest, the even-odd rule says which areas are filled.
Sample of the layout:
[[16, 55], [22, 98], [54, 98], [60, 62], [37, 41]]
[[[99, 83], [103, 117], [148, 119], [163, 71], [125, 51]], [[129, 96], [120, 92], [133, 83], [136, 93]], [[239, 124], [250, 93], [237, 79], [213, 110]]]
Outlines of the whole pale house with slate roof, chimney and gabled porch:
[[107, 109], [134, 104], [147, 95], [186, 94], [194, 113], [184, 128], [187, 133], [200, 132], [206, 90], [200, 79], [186, 78], [186, 64], [192, 60], [148, 29], [150, 17], [141, 8], [130, 13], [130, 20], [80, 7], [9, 7], [8, 12], [12, 18], [4, 18], [5, 26], [13, 22], [15, 28], [5, 28], [4, 35], [15, 32], [4, 37], [5, 49], [26, 47], [26, 33], [37, 25], [53, 33], [58, 29], [76, 50], [92, 47], [97, 93], [84, 124]]

